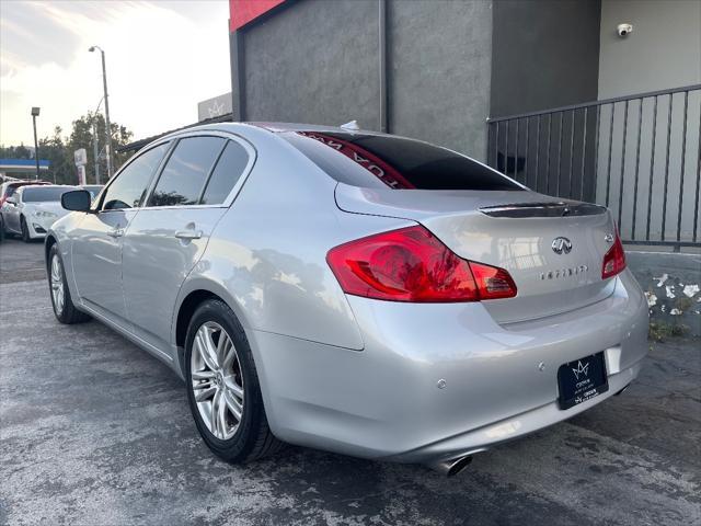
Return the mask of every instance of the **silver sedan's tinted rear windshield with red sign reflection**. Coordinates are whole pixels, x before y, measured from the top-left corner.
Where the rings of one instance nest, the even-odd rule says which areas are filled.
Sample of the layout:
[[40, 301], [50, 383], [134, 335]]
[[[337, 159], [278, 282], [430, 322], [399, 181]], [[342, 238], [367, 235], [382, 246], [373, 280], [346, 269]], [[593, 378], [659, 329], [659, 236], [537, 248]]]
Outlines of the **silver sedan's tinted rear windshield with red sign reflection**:
[[459, 153], [392, 136], [286, 132], [280, 134], [341, 183], [395, 190], [524, 190]]

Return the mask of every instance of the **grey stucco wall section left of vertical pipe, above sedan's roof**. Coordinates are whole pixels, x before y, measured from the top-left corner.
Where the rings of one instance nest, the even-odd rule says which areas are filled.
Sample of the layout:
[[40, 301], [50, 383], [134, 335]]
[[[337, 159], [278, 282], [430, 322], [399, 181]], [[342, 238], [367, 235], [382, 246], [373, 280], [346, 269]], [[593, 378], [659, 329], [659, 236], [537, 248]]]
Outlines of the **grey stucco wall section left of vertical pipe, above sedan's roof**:
[[379, 129], [377, 0], [303, 0], [243, 34], [246, 121]]

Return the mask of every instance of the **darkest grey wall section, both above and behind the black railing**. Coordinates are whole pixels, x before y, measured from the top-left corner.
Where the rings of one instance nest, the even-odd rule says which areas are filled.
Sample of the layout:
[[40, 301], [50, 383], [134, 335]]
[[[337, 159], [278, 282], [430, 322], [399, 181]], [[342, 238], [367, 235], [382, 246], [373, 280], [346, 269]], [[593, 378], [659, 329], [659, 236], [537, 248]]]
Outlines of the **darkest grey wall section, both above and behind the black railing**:
[[[496, 0], [490, 116], [595, 101], [599, 16], [600, 0]], [[490, 164], [544, 194], [594, 199], [596, 122], [572, 118], [492, 125]]]

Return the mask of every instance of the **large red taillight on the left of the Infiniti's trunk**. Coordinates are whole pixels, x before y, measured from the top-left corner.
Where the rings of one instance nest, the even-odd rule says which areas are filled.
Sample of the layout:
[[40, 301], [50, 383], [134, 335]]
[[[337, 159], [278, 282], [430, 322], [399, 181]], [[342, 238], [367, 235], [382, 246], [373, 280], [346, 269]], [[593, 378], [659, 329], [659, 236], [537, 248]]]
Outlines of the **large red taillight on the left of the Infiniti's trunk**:
[[366, 298], [450, 302], [516, 296], [508, 272], [459, 258], [420, 226], [342, 244], [326, 261], [346, 294]]

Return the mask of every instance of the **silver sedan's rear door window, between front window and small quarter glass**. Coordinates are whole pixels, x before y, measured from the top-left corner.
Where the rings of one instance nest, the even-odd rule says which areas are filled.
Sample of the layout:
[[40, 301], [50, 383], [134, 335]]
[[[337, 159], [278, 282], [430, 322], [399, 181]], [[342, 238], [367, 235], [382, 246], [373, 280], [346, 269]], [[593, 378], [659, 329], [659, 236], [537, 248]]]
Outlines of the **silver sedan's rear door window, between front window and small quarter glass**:
[[165, 163], [148, 206], [195, 205], [226, 139], [181, 139]]

